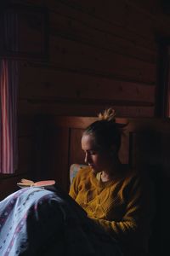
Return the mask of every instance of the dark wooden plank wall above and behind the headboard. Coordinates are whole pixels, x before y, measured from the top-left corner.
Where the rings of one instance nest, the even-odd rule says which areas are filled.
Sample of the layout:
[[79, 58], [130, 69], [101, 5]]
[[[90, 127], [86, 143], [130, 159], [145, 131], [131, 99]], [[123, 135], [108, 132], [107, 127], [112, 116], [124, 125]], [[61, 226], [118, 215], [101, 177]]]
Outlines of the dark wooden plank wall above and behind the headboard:
[[170, 35], [158, 0], [7, 2], [20, 9], [19, 53], [8, 55], [20, 63], [19, 168], [0, 177], [1, 198], [20, 177], [41, 178], [37, 115], [95, 116], [114, 106], [119, 117], [156, 116], [156, 37]]

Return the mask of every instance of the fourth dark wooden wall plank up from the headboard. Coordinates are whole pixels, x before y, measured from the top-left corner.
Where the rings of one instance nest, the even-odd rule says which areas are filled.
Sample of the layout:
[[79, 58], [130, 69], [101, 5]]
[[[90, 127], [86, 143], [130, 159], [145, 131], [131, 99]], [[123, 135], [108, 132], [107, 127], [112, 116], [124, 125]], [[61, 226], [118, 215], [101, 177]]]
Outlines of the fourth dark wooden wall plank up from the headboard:
[[[156, 61], [156, 52], [152, 47], [135, 44], [132, 38], [126, 38], [125, 30], [119, 27], [120, 31], [115, 32], [116, 26], [107, 24], [103, 26], [104, 20], [94, 19], [93, 16], [82, 18], [81, 14], [75, 17], [70, 12], [66, 15], [64, 12], [53, 13], [50, 16], [50, 34], [54, 37], [68, 38], [79, 42], [80, 44], [88, 44], [99, 49], [105, 49], [108, 52], [118, 52], [123, 55], [131, 55], [143, 61]], [[94, 21], [94, 22], [93, 22]], [[129, 32], [130, 33], [130, 32]], [[125, 40], [126, 39], [126, 40]], [[144, 40], [141, 38], [141, 40]], [[61, 49], [64, 49], [61, 47]]]

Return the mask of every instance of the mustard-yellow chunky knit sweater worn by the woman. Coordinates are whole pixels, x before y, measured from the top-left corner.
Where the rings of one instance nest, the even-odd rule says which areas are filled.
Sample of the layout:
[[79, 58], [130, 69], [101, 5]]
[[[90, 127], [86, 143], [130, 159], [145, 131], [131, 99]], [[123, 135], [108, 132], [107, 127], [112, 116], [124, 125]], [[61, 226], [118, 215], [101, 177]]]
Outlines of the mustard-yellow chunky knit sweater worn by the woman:
[[150, 184], [144, 178], [126, 171], [114, 181], [102, 182], [85, 167], [77, 172], [69, 195], [120, 241], [127, 255], [145, 255], [153, 207]]

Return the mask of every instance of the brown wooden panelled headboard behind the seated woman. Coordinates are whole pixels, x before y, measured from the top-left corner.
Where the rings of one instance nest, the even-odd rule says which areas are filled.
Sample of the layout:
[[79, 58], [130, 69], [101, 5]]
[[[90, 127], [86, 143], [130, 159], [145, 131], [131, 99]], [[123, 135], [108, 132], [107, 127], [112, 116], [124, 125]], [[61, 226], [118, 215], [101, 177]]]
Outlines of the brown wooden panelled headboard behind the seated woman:
[[[94, 122], [93, 117], [37, 117], [37, 164], [35, 178], [54, 178], [68, 190], [69, 168], [83, 163], [82, 131]], [[170, 121], [168, 119], [123, 119], [120, 159], [123, 164], [150, 172], [153, 176], [170, 176]], [[163, 181], [162, 181], [163, 182]]]

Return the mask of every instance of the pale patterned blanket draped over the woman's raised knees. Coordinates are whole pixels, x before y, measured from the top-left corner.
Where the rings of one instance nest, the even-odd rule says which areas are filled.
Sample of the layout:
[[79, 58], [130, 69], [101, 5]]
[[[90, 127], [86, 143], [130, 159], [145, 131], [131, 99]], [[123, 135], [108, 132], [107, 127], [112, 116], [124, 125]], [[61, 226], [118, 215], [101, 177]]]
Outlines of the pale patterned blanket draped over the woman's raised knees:
[[122, 256], [115, 240], [60, 189], [20, 189], [0, 202], [1, 256]]

